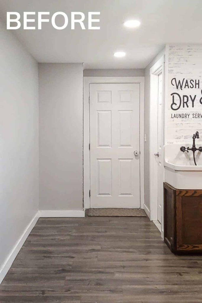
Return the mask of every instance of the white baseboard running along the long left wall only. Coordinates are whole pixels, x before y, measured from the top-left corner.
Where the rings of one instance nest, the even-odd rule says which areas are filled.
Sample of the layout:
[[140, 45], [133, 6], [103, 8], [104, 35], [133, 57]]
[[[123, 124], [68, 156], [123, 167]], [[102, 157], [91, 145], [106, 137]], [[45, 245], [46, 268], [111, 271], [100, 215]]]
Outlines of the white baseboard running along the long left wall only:
[[31, 222], [28, 224], [28, 226], [25, 228], [22, 236], [19, 238], [17, 244], [12, 249], [10, 255], [8, 256], [4, 265], [0, 269], [0, 284], [2, 283], [5, 275], [7, 274], [8, 270], [10, 269], [13, 261], [15, 260], [16, 256], [18, 255], [18, 252], [22, 248], [22, 245], [25, 243], [25, 240], [27, 239], [28, 235], [30, 234], [32, 228], [35, 226], [37, 221], [38, 221], [38, 212], [36, 213], [34, 218], [31, 220]]

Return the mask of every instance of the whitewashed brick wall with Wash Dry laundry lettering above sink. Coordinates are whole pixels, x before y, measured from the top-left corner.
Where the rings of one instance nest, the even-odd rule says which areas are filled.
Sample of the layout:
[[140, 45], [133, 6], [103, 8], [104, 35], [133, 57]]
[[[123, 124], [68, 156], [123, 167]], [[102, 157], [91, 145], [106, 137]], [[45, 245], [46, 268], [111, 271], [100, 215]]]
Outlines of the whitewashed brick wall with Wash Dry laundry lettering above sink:
[[[193, 114], [202, 113], [202, 104], [200, 103], [200, 98], [202, 97], [201, 89], [202, 89], [202, 44], [190, 45], [168, 45], [168, 94], [165, 105], [166, 112], [166, 125], [165, 125], [165, 142], [166, 143], [178, 143], [178, 142], [186, 142], [192, 143], [192, 136], [196, 131], [200, 133], [200, 139], [197, 140], [197, 144], [202, 142], [202, 116], [194, 116]], [[176, 78], [176, 81], [179, 80], [182, 82], [184, 79], [184, 85], [186, 80], [188, 80], [188, 86], [180, 89], [176, 88], [175, 85], [171, 84], [171, 80]], [[193, 79], [199, 80], [199, 87], [192, 88], [189, 80]], [[172, 93], [178, 93], [181, 98], [183, 95], [188, 96], [188, 103], [183, 108], [181, 107], [177, 110], [171, 109], [172, 104]], [[196, 95], [194, 101], [194, 107], [192, 107], [192, 102], [190, 100], [190, 95], [192, 98]], [[179, 106], [179, 97], [175, 96], [174, 109]], [[180, 118], [180, 115], [181, 118]], [[187, 116], [185, 116], [185, 114]], [[188, 116], [189, 114], [189, 116]], [[176, 115], [176, 116], [174, 116]]]

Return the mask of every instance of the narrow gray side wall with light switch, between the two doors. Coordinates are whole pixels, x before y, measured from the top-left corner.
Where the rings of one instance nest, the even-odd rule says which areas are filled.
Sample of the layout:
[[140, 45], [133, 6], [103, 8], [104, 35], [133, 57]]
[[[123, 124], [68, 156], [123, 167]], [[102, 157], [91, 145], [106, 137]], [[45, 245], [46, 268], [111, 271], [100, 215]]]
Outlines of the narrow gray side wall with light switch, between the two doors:
[[165, 54], [165, 48], [147, 65], [144, 74], [144, 133], [147, 142], [144, 142], [144, 204], [150, 209], [149, 198], [149, 113], [150, 113], [150, 68]]

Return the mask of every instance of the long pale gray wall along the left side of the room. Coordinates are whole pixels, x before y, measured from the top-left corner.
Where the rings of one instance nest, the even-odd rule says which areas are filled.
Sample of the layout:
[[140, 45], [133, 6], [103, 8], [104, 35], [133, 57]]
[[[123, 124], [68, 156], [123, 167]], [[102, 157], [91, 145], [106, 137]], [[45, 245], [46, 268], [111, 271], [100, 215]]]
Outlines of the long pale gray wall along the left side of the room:
[[0, 22], [0, 268], [38, 210], [38, 63]]

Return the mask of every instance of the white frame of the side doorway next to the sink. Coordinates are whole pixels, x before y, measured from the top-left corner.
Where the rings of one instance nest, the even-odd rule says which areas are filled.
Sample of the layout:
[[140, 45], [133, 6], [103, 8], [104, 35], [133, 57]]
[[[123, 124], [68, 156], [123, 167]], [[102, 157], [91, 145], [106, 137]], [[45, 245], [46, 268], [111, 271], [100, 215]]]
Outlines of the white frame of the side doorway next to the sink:
[[[157, 164], [154, 153], [157, 152], [157, 112], [158, 112], [158, 75], [162, 73], [162, 112], [161, 112], [161, 146], [164, 145], [164, 83], [165, 83], [165, 55], [163, 55], [151, 68], [150, 68], [150, 121], [149, 121], [149, 130], [150, 130], [150, 178], [149, 178], [149, 190], [150, 190], [150, 219], [152, 221], [157, 221], [157, 195], [158, 195], [158, 179], [157, 179]], [[162, 157], [163, 160], [163, 157]], [[162, 163], [162, 169], [164, 169]], [[163, 180], [162, 180], [163, 182]], [[161, 229], [163, 226], [163, 197], [162, 197], [162, 220], [161, 220]], [[161, 230], [162, 231], [162, 230]]]

